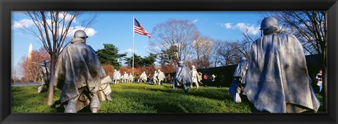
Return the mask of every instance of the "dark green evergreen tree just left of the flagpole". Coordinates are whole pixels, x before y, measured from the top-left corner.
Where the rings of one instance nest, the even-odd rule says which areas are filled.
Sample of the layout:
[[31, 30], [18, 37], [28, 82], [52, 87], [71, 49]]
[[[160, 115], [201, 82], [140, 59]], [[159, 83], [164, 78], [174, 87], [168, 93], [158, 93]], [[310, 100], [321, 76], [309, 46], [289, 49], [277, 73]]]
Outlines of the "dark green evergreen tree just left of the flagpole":
[[118, 47], [114, 44], [104, 44], [104, 49], [97, 50], [96, 54], [101, 64], [109, 64], [114, 66], [114, 68], [120, 68], [121, 64], [118, 62], [118, 59], [127, 56], [127, 53], [118, 54]]

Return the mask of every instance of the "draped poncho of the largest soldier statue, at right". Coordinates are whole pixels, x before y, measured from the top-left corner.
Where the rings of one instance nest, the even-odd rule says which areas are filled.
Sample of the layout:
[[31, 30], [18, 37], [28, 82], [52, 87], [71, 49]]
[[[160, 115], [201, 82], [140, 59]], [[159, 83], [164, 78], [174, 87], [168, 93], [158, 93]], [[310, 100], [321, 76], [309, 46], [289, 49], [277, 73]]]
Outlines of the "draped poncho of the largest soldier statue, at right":
[[251, 46], [244, 92], [259, 111], [317, 111], [303, 47], [294, 35], [271, 34]]

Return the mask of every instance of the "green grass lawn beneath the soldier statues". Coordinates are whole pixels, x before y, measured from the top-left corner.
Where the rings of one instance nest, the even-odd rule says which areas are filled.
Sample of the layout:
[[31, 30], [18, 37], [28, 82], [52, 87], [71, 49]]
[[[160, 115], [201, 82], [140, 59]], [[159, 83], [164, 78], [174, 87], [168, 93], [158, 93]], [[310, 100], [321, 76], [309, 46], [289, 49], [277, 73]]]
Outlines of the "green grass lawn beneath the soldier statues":
[[[46, 92], [37, 94], [38, 86], [12, 87], [12, 113], [63, 112], [46, 105]], [[111, 85], [112, 101], [101, 102], [101, 113], [251, 113], [249, 104], [235, 104], [227, 95], [228, 88], [200, 87], [173, 90], [173, 85], [149, 85], [145, 83], [120, 83]], [[54, 91], [54, 101], [61, 90]], [[320, 96], [318, 97], [322, 99]], [[80, 112], [90, 112], [84, 109]], [[320, 108], [318, 112], [323, 112]]]

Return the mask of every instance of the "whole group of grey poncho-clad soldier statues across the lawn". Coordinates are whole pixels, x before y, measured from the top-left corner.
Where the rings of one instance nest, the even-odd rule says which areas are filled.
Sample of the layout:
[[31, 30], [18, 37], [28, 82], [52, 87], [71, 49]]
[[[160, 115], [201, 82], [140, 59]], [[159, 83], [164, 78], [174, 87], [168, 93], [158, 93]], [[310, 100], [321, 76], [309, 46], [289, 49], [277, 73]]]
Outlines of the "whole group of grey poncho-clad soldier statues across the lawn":
[[[303, 47], [294, 35], [280, 32], [277, 19], [264, 18], [261, 22], [261, 37], [251, 45], [249, 58], [242, 57], [233, 76], [228, 94], [239, 103], [248, 99], [252, 112], [302, 113], [316, 112], [320, 106], [306, 67]], [[92, 113], [99, 112], [100, 101], [111, 101], [110, 82], [132, 82], [133, 77], [121, 75], [118, 70], [113, 81], [101, 68], [94, 49], [86, 44], [87, 35], [77, 30], [71, 44], [66, 46], [56, 63], [54, 76], [49, 75], [49, 66], [44, 61], [40, 71], [42, 80], [38, 92], [51, 83], [62, 90], [61, 104], [65, 113], [76, 113], [90, 106]], [[161, 85], [165, 75], [161, 70], [154, 72], [154, 84]], [[146, 82], [146, 73], [139, 76]], [[174, 89], [182, 86], [189, 95], [189, 86], [199, 88], [201, 74], [192, 66], [190, 70], [183, 61], [177, 62]]]

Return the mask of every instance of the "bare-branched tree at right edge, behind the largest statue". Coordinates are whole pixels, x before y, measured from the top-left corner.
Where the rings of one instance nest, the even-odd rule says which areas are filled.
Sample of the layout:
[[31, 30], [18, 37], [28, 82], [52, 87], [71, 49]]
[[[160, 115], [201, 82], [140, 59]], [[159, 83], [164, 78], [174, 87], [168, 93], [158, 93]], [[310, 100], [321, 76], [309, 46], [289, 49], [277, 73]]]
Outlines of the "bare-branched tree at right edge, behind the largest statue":
[[[284, 32], [295, 35], [306, 54], [319, 54], [323, 64], [323, 96], [327, 103], [327, 15], [326, 11], [273, 11], [268, 13], [280, 21]], [[325, 110], [327, 107], [324, 105]]]

